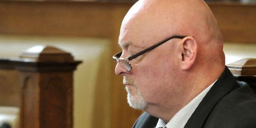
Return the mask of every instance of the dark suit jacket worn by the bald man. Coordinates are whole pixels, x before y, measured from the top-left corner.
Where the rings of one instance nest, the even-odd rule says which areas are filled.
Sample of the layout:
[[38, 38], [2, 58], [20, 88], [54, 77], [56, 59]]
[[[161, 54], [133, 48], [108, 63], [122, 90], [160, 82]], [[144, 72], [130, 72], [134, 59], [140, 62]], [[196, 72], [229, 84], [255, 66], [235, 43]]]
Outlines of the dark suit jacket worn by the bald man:
[[[143, 113], [132, 128], [154, 128], [157, 121]], [[184, 128], [256, 128], [256, 96], [226, 67]]]

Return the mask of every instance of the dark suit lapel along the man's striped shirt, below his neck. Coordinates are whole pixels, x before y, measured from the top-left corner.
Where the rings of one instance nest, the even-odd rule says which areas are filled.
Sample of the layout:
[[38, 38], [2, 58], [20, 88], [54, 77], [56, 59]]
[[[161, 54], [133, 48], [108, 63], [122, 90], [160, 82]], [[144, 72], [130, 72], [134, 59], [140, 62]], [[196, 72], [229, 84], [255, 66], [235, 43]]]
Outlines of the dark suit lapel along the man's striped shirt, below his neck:
[[218, 101], [224, 97], [236, 84], [236, 79], [226, 67], [221, 77], [205, 95], [184, 128], [201, 128]]

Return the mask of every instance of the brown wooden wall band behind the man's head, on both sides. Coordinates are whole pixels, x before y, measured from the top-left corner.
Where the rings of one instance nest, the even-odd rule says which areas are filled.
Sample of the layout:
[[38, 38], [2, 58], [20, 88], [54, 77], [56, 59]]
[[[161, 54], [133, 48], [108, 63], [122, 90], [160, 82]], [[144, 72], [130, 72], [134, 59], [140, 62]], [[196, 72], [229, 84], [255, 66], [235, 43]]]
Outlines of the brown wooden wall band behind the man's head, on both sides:
[[[116, 38], [113, 34], [120, 26], [116, 23], [121, 22], [132, 4], [0, 1], [0, 33]], [[225, 42], [256, 42], [255, 4], [210, 2], [209, 6]]]

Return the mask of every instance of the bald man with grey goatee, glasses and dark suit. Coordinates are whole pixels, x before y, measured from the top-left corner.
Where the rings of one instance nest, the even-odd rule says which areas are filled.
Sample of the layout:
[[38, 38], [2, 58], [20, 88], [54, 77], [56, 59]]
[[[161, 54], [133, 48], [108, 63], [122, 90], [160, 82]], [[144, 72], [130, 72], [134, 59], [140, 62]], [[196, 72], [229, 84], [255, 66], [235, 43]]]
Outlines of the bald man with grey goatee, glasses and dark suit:
[[139, 0], [113, 56], [133, 128], [256, 128], [256, 96], [225, 66], [218, 24], [203, 0]]

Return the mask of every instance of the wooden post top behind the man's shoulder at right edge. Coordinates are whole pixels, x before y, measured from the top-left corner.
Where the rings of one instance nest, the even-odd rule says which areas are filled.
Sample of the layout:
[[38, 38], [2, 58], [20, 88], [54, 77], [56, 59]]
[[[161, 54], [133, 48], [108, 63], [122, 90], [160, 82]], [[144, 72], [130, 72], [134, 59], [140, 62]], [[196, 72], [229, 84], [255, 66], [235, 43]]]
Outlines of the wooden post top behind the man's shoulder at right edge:
[[227, 67], [238, 81], [247, 82], [256, 94], [256, 58], [244, 58], [227, 64]]

